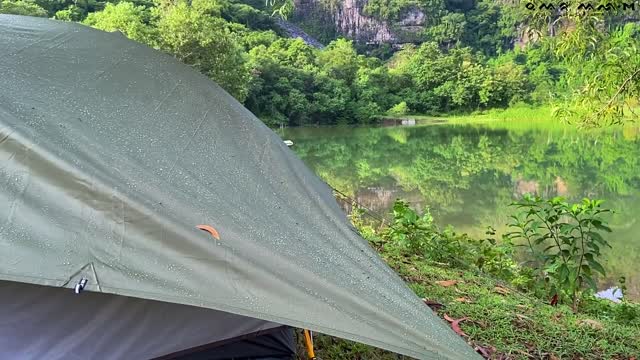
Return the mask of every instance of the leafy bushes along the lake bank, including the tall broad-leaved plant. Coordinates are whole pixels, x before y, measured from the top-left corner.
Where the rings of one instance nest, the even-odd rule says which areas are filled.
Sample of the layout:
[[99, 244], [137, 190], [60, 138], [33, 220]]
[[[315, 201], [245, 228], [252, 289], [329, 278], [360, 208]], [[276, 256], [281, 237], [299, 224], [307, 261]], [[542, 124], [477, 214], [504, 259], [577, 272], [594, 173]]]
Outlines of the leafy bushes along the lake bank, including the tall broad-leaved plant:
[[[601, 247], [609, 244], [600, 233], [611, 229], [601, 215], [610, 210], [601, 204], [600, 200], [568, 204], [560, 197], [525, 196], [512, 204], [519, 210], [508, 224], [514, 231], [497, 240], [489, 227], [487, 238], [478, 240], [451, 227], [440, 230], [428, 209], [419, 215], [406, 202], [396, 200], [393, 222], [382, 232], [382, 241], [409, 255], [476, 268], [520, 289], [542, 293], [544, 299], [569, 302], [576, 311], [579, 300], [596, 290], [596, 273], [605, 274], [599, 257]], [[371, 238], [372, 229], [368, 232]], [[516, 261], [517, 246], [529, 250], [523, 265]]]

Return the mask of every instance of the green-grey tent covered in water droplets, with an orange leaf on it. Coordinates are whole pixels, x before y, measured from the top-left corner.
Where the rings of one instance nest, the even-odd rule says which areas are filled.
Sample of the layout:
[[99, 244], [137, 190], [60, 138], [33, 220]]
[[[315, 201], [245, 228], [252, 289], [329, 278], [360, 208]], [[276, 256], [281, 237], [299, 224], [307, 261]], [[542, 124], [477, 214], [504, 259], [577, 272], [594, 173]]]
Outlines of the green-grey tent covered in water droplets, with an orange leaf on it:
[[284, 359], [290, 327], [478, 357], [210, 79], [0, 15], [0, 358]]

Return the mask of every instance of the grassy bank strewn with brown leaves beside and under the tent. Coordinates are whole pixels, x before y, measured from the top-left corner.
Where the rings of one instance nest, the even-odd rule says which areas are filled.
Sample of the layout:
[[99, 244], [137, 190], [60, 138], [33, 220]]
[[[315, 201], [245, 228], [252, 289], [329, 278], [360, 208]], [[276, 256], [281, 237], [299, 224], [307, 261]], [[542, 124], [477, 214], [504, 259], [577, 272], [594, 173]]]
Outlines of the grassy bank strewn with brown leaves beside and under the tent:
[[[418, 256], [382, 249], [382, 257], [416, 294], [444, 305], [437, 311], [451, 318], [468, 317], [461, 329], [472, 346], [481, 346], [493, 359], [636, 359], [640, 358], [640, 308], [635, 315], [621, 306], [592, 300], [574, 314], [568, 306], [551, 306], [472, 271], [429, 263]], [[450, 286], [438, 281], [455, 280]], [[431, 311], [425, 305], [425, 311]], [[634, 318], [635, 316], [635, 318]], [[391, 360], [390, 352], [318, 335], [316, 355], [322, 360]], [[299, 352], [301, 359], [305, 351]]]

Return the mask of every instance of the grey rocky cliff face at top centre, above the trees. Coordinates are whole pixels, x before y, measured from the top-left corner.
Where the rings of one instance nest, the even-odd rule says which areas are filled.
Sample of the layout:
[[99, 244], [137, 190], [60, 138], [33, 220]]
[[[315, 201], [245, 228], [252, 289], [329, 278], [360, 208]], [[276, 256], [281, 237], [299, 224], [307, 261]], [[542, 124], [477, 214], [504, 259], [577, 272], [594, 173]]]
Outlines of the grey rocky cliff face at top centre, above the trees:
[[[364, 14], [367, 0], [295, 0], [295, 20], [313, 27], [331, 27], [332, 31], [358, 43], [401, 44], [415, 42], [425, 26], [425, 14], [419, 9], [405, 11], [398, 21], [388, 22]], [[307, 26], [307, 32], [313, 32]], [[327, 29], [321, 29], [326, 33]]]

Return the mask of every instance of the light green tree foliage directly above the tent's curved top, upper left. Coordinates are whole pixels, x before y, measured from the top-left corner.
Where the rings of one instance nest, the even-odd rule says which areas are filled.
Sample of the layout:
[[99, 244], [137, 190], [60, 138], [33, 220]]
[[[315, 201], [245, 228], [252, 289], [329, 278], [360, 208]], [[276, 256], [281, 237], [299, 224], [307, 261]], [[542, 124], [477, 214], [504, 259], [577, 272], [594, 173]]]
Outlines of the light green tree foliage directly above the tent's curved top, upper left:
[[[103, 11], [90, 13], [83, 22], [105, 31], [120, 31], [171, 53], [244, 100], [249, 73], [238, 35], [232, 31], [232, 24], [220, 17], [227, 4], [215, 0], [159, 0], [157, 4], [149, 8], [124, 1], [108, 3]], [[73, 15], [60, 16], [71, 19]]]

